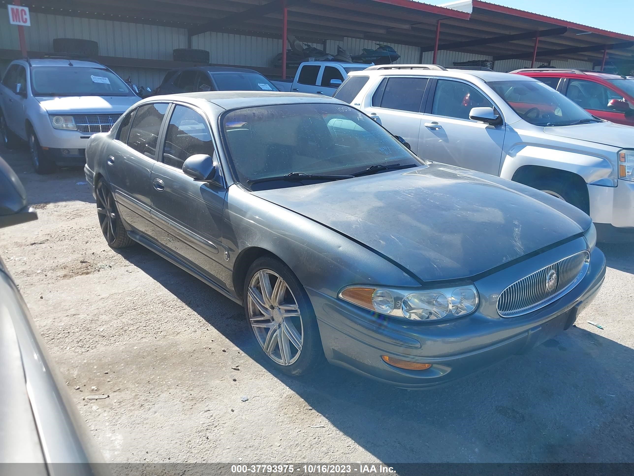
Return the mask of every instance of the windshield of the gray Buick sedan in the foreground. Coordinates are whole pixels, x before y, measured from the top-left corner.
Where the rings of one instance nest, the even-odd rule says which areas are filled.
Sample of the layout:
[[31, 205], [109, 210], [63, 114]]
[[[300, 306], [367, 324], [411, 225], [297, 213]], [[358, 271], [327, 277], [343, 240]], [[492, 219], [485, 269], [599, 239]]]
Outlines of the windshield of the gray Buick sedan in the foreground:
[[[348, 175], [374, 165], [424, 163], [370, 117], [341, 104], [238, 109], [223, 124], [233, 169], [244, 185], [289, 173]], [[283, 186], [289, 185], [301, 183]]]

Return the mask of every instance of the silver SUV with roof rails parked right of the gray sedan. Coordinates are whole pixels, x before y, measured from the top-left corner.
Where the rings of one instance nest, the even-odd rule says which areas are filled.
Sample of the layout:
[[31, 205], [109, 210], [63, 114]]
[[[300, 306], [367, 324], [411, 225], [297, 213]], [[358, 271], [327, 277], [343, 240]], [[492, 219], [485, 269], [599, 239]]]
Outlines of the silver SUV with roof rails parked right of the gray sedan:
[[437, 65], [351, 72], [335, 93], [427, 159], [515, 180], [634, 239], [634, 136], [536, 79]]

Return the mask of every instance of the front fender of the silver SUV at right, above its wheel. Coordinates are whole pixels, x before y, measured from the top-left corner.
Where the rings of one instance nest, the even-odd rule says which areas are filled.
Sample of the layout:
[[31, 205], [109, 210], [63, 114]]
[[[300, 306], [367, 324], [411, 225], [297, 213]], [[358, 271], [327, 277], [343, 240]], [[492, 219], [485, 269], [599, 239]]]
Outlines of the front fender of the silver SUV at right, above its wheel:
[[581, 176], [590, 185], [606, 187], [617, 185], [616, 171], [607, 157], [536, 145], [518, 145], [509, 150], [504, 158], [500, 176], [512, 180], [515, 171], [524, 166], [540, 166], [572, 172]]

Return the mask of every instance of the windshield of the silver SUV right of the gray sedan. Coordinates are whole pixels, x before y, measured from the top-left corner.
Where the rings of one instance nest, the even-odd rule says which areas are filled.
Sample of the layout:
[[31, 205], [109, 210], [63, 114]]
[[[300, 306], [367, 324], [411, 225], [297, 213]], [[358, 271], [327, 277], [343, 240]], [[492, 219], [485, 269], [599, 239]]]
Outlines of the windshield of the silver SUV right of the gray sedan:
[[487, 84], [524, 121], [536, 126], [571, 126], [595, 121], [591, 114], [540, 81], [491, 81]]

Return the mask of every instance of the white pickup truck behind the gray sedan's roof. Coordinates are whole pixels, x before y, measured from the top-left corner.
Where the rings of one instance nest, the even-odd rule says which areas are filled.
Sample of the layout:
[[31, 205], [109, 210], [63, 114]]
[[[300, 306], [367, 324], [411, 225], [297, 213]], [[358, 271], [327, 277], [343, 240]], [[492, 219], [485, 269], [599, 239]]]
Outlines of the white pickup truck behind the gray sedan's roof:
[[294, 79], [276, 79], [271, 83], [280, 91], [332, 96], [349, 72], [361, 71], [368, 66], [363, 63], [304, 62], [299, 65]]

